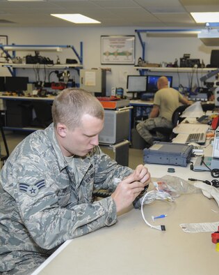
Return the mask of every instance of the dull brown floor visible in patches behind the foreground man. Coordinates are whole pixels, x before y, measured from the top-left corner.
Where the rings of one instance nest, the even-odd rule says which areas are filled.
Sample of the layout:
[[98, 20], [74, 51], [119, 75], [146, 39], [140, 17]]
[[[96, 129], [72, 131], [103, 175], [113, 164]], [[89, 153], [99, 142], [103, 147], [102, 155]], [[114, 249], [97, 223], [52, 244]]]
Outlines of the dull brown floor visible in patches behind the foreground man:
[[[6, 140], [8, 143], [8, 149], [9, 152], [11, 153], [13, 149], [16, 147], [16, 145], [21, 142], [27, 133], [18, 133], [18, 132], [10, 132], [7, 131], [6, 133]], [[112, 158], [114, 157], [113, 150], [108, 150], [106, 148], [102, 148], [102, 150], [111, 156]], [[1, 153], [4, 154], [5, 149], [3, 147], [3, 142], [1, 140]], [[142, 149], [133, 149], [129, 148], [129, 167], [132, 169], [135, 169], [138, 164], [143, 164], [143, 150]]]

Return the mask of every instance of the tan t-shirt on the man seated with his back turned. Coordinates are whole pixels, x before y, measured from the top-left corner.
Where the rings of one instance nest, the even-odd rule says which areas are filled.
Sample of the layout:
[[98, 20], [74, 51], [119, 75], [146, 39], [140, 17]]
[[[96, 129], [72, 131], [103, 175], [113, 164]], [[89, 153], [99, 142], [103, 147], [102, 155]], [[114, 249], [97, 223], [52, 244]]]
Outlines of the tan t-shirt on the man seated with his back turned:
[[173, 112], [179, 107], [179, 102], [183, 96], [173, 88], [164, 88], [156, 91], [154, 104], [159, 105], [159, 117], [165, 117], [172, 121]]

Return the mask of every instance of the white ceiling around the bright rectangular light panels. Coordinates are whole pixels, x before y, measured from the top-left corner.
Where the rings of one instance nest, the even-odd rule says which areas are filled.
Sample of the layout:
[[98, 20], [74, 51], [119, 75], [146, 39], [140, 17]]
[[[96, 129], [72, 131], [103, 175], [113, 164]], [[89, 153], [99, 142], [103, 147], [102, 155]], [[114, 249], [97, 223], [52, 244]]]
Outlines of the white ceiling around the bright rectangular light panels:
[[219, 0], [0, 0], [0, 28], [77, 26], [50, 13], [81, 13], [102, 22], [94, 27], [203, 27], [190, 16], [194, 11], [219, 11]]

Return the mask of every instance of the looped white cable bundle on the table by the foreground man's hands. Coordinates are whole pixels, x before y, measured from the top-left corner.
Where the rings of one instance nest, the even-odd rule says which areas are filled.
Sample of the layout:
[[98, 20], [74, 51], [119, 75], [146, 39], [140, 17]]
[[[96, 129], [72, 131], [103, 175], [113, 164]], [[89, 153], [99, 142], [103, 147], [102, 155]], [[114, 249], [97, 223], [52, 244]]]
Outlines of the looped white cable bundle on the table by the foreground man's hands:
[[154, 200], [168, 200], [170, 202], [173, 202], [174, 200], [173, 200], [172, 196], [169, 193], [165, 192], [165, 191], [152, 190], [152, 191], [149, 191], [149, 192], [145, 193], [145, 195], [141, 199], [142, 199], [142, 201], [141, 201], [140, 211], [141, 211], [141, 214], [143, 216], [143, 220], [145, 221], [145, 223], [150, 228], [154, 228], [154, 229], [157, 229], [157, 230], [164, 231], [165, 230], [164, 225], [151, 225], [146, 220], [145, 215], [144, 215], [144, 211], [143, 211], [143, 205], [147, 205], [147, 204], [153, 202]]

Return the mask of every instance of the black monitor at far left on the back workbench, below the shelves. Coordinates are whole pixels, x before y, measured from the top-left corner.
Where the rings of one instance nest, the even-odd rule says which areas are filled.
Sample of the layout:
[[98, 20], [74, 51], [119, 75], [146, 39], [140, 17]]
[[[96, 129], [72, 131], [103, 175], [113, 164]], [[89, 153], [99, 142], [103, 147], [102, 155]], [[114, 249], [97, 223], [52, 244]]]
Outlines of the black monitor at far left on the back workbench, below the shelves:
[[6, 76], [6, 91], [26, 91], [29, 77]]

